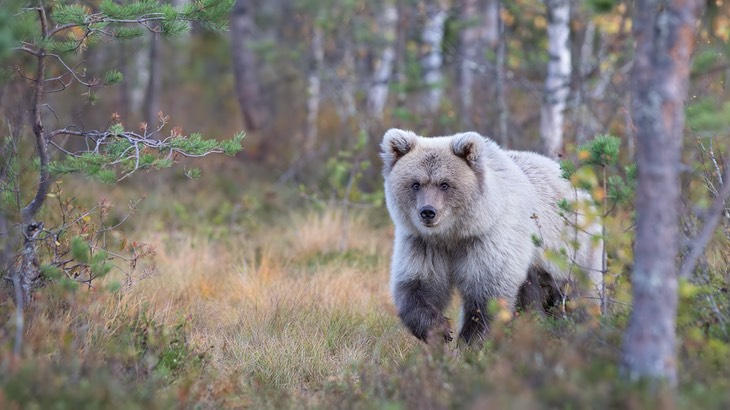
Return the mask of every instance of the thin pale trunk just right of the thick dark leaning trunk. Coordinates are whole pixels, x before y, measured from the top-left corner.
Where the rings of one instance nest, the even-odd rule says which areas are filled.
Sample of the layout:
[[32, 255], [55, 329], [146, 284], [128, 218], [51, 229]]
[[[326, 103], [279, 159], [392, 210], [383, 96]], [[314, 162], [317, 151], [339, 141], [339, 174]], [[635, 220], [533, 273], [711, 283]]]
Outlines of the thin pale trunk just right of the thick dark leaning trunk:
[[324, 61], [324, 31], [317, 22], [312, 25], [310, 43], [311, 67], [309, 69], [309, 87], [307, 89], [307, 124], [304, 131], [304, 150], [310, 152], [317, 142], [317, 122], [319, 120], [319, 103], [321, 99], [321, 71]]

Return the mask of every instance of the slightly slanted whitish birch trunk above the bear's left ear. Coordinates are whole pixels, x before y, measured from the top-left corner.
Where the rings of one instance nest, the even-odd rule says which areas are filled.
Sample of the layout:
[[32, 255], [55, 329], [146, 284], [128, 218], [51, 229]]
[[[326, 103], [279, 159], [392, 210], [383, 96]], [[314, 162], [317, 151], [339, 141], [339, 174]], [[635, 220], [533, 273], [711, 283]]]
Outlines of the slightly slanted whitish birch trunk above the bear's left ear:
[[395, 1], [388, 0], [383, 5], [379, 27], [383, 36], [383, 53], [373, 74], [373, 84], [368, 93], [368, 113], [372, 118], [381, 120], [388, 102], [388, 86], [393, 76], [395, 63], [395, 42], [397, 35], [398, 8]]

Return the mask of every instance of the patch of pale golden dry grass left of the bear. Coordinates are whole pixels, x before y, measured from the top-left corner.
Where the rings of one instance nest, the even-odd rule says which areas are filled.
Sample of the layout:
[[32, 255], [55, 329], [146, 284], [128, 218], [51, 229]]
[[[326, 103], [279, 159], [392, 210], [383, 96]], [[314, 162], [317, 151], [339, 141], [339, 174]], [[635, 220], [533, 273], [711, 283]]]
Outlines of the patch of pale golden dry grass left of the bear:
[[[286, 227], [225, 243], [152, 236], [158, 273], [125, 299], [155, 320], [189, 318], [189, 340], [212, 372], [284, 391], [337, 382], [374, 352], [404, 356], [417, 343], [388, 295], [389, 230], [336, 210], [292, 217]], [[385, 352], [385, 353], [383, 353]]]

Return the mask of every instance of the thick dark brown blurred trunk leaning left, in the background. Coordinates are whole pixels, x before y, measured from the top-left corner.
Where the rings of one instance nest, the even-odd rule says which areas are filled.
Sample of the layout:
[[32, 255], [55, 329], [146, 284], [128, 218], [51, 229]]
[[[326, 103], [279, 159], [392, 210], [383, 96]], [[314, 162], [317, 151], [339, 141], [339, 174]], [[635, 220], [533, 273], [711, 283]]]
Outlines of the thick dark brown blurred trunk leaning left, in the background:
[[263, 128], [269, 111], [261, 95], [256, 54], [251, 48], [254, 36], [251, 0], [237, 0], [231, 13], [231, 56], [236, 97], [247, 131]]

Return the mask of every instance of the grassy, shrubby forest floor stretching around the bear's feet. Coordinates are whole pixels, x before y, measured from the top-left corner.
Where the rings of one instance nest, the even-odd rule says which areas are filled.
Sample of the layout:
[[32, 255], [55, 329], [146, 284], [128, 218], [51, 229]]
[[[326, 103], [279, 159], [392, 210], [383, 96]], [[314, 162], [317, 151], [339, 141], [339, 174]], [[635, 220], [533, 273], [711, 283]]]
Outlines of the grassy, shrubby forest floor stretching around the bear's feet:
[[[39, 292], [19, 360], [14, 305], [0, 303], [0, 408], [730, 408], [730, 347], [692, 323], [677, 393], [631, 387], [618, 366], [626, 309], [521, 315], [481, 349], [428, 348], [389, 295], [384, 207], [345, 215], [206, 178], [143, 189], [122, 230], [154, 253], [104, 278], [118, 290]], [[117, 218], [140, 192], [99, 189]]]

